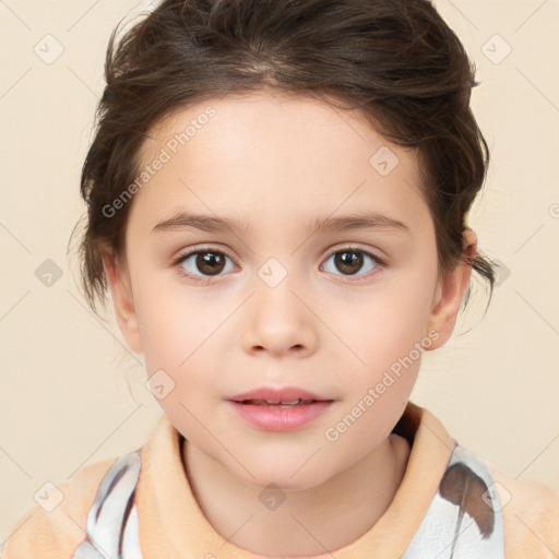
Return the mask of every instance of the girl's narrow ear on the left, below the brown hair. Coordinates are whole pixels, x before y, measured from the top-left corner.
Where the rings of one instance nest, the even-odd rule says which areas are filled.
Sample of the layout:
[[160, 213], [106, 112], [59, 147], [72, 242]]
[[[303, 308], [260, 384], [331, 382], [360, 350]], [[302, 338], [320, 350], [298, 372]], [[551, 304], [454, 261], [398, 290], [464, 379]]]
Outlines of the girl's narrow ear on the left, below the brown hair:
[[142, 341], [138, 328], [134, 297], [130, 275], [110, 249], [102, 249], [103, 267], [110, 286], [117, 322], [124, 341], [136, 354], [142, 353]]

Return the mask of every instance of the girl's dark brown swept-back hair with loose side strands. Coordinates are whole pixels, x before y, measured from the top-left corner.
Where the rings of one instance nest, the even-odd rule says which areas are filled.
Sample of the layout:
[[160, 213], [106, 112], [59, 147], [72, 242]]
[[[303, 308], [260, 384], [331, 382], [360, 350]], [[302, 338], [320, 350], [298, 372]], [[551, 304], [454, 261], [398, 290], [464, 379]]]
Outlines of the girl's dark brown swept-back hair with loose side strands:
[[489, 162], [469, 108], [478, 83], [428, 0], [164, 0], [118, 44], [117, 31], [81, 176], [81, 280], [93, 310], [96, 298], [106, 301], [102, 243], [123, 260], [131, 204], [110, 217], [103, 209], [138, 176], [148, 130], [194, 103], [265, 87], [357, 109], [386, 139], [416, 148], [440, 273], [471, 264], [492, 294], [492, 263], [479, 251], [468, 259], [462, 237]]

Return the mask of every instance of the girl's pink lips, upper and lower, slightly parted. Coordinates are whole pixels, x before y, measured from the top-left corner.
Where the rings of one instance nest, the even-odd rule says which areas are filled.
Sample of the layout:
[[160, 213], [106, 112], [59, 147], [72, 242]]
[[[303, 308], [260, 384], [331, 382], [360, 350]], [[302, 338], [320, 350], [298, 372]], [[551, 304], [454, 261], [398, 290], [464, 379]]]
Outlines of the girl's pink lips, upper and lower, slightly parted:
[[[280, 407], [278, 405], [251, 404], [247, 402], [250, 400], [265, 400], [270, 403], [293, 400], [312, 400], [313, 402], [294, 407]], [[333, 402], [333, 400], [323, 399], [296, 386], [286, 386], [281, 390], [262, 388], [229, 399], [233, 408], [246, 421], [259, 429], [276, 432], [293, 431], [304, 427], [326, 412]]]

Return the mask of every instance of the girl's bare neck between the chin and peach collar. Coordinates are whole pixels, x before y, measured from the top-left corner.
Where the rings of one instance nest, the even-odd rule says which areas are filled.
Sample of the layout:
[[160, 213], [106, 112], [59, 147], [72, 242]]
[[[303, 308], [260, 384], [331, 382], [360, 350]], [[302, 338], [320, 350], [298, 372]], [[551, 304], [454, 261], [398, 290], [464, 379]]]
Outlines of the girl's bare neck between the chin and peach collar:
[[266, 557], [321, 555], [349, 545], [386, 511], [404, 476], [409, 444], [391, 435], [325, 483], [284, 491], [277, 508], [254, 508], [263, 488], [245, 484], [185, 441], [182, 461], [194, 497], [229, 543]]

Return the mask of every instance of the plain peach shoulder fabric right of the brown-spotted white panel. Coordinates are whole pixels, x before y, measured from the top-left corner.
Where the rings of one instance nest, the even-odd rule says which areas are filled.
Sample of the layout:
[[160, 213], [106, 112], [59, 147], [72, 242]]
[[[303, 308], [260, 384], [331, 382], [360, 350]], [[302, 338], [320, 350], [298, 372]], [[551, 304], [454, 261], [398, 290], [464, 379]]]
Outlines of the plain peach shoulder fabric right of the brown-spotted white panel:
[[559, 557], [559, 492], [485, 463], [501, 500], [507, 559]]

